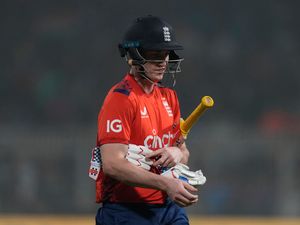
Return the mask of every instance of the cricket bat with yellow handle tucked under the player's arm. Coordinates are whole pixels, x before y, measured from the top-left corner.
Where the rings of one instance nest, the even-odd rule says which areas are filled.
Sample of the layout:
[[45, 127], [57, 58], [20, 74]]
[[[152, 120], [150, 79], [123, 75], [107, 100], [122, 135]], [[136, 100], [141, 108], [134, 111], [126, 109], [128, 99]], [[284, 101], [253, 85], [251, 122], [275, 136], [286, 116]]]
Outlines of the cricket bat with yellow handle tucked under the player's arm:
[[194, 109], [194, 111], [185, 120], [180, 121], [180, 130], [182, 135], [176, 140], [176, 146], [181, 146], [183, 144], [192, 126], [198, 121], [198, 119], [208, 108], [211, 108], [213, 106], [214, 100], [212, 99], [212, 97], [202, 97], [200, 104]]

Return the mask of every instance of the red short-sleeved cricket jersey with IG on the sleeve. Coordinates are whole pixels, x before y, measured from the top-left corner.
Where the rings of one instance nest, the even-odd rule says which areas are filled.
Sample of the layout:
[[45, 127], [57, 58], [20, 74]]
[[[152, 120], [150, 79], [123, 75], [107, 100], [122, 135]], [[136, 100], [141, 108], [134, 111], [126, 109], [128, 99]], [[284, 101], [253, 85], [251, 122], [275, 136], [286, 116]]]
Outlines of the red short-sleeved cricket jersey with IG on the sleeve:
[[[125, 78], [107, 94], [98, 116], [97, 145], [122, 143], [144, 145], [151, 150], [172, 146], [180, 133], [180, 109], [174, 90], [155, 86], [146, 94], [134, 77]], [[161, 204], [162, 191], [129, 186], [100, 172], [97, 202], [144, 202]]]

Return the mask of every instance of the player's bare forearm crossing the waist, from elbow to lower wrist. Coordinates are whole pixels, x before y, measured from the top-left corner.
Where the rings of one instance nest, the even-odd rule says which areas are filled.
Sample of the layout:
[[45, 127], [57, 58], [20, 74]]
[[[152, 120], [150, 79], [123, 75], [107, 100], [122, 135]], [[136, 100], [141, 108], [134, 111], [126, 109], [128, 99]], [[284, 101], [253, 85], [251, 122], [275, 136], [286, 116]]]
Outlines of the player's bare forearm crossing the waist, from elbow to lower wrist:
[[108, 176], [132, 186], [166, 190], [166, 179], [163, 176], [132, 165], [126, 159], [113, 164], [103, 162], [103, 171]]

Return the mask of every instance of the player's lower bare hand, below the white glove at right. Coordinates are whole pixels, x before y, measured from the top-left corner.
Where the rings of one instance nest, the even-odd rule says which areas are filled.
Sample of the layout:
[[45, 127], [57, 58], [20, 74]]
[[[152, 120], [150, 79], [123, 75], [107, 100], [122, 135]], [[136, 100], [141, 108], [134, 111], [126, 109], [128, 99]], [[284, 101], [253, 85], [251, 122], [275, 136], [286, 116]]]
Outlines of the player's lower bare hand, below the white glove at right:
[[166, 192], [169, 198], [181, 207], [187, 207], [198, 202], [198, 195], [192, 194], [197, 188], [179, 179], [168, 178]]

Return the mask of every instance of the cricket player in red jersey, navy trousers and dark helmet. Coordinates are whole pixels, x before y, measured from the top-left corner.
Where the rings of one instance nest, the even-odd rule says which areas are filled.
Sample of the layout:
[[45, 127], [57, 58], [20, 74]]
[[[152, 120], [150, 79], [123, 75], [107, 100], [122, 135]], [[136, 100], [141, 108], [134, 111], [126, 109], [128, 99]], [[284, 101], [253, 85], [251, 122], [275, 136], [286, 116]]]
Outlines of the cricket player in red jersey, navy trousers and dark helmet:
[[[160, 175], [160, 168], [189, 158], [185, 144], [174, 146], [180, 107], [175, 91], [163, 85], [163, 78], [175, 81], [180, 72], [176, 51], [182, 49], [173, 28], [154, 16], [137, 18], [119, 45], [129, 72], [110, 89], [98, 117], [97, 225], [189, 224], [184, 207], [198, 201], [197, 188]], [[131, 144], [151, 150], [145, 156], [150, 170], [126, 159]]]

